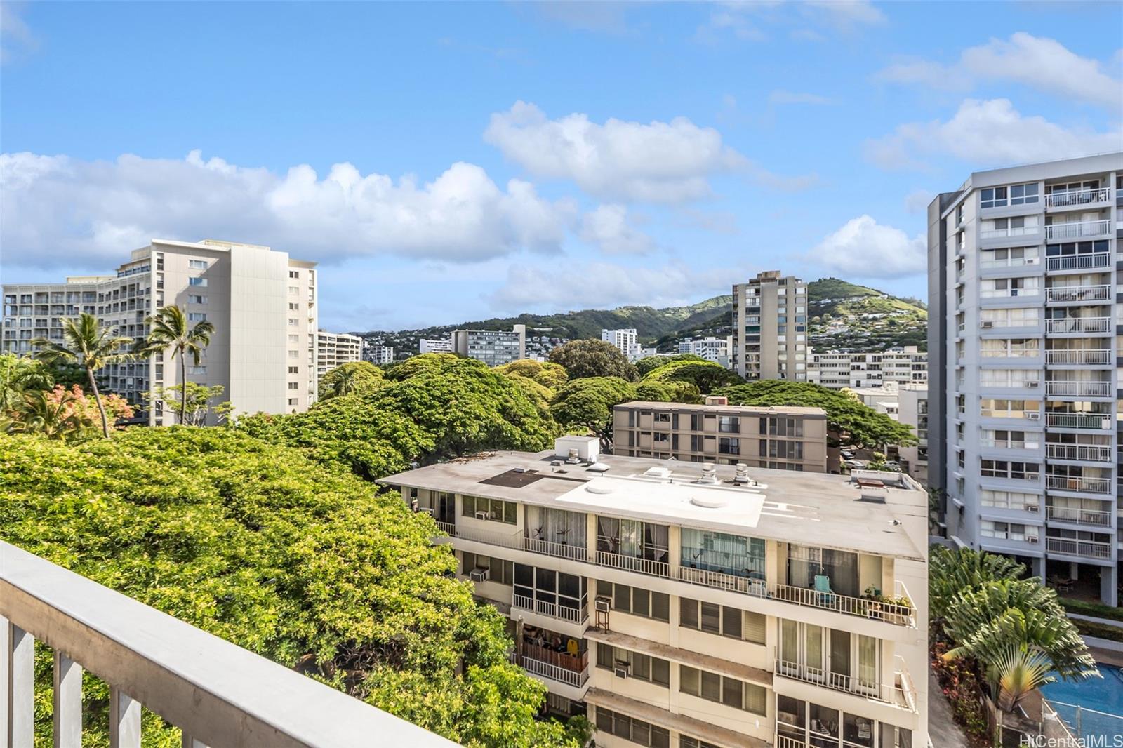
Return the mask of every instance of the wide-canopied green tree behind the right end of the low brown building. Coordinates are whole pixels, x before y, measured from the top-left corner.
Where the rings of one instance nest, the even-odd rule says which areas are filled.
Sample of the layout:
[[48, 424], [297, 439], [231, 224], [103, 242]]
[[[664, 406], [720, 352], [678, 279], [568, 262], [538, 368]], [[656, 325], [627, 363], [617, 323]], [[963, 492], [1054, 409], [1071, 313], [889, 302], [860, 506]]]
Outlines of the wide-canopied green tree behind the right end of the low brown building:
[[832, 437], [844, 446], [879, 448], [916, 444], [912, 429], [860, 400], [810, 382], [764, 380], [721, 387], [731, 405], [804, 405], [827, 411]]

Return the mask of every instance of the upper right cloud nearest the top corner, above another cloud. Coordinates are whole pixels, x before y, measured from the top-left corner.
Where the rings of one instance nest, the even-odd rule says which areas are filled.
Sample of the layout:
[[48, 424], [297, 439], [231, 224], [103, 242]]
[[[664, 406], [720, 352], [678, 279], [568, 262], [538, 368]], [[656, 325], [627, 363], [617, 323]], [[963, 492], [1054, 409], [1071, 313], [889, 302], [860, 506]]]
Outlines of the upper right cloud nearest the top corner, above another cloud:
[[1025, 31], [1010, 39], [990, 39], [968, 47], [953, 65], [925, 60], [900, 62], [880, 71], [878, 80], [966, 91], [988, 81], [1023, 83], [1075, 101], [1123, 107], [1123, 81], [1098, 61], [1081, 57], [1056, 39]]

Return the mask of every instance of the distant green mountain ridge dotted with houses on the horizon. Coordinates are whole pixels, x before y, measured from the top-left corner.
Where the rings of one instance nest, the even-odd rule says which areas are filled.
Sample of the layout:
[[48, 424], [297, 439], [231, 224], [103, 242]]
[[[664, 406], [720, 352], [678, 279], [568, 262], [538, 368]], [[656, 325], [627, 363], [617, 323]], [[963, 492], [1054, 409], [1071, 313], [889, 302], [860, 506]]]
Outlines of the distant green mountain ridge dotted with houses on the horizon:
[[[807, 284], [807, 295], [809, 336], [811, 345], [818, 349], [883, 350], [898, 345], [919, 345], [923, 349], [925, 345], [928, 310], [916, 299], [901, 299], [834, 277], [812, 281]], [[378, 338], [383, 345], [400, 350], [417, 352], [418, 339], [446, 337], [457, 329], [509, 330], [512, 325], [526, 325], [528, 335], [576, 339], [600, 338], [604, 328], [633, 327], [645, 345], [669, 350], [681, 338], [729, 335], [731, 302], [730, 294], [722, 294], [683, 307], [628, 305], [553, 314], [524, 313], [417, 330], [373, 330], [355, 335]]]

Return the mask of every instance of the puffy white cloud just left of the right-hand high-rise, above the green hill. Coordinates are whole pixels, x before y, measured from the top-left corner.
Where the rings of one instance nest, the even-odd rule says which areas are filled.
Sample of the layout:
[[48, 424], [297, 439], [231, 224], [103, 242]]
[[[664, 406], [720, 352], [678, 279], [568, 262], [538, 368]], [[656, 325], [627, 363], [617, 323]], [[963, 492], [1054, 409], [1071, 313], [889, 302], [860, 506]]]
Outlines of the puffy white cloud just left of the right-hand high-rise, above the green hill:
[[852, 218], [807, 253], [818, 267], [850, 277], [902, 277], [928, 270], [928, 243], [882, 226], [869, 216]]

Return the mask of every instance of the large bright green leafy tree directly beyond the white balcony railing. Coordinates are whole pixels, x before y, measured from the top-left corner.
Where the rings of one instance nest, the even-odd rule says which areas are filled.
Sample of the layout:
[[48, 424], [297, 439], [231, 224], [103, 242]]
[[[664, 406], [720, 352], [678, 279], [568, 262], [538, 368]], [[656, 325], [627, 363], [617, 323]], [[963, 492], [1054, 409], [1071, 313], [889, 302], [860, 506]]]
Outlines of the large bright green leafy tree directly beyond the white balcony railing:
[[[504, 617], [396, 492], [239, 429], [0, 435], [0, 538], [94, 582], [460, 745], [582, 745], [536, 719], [545, 687], [508, 660]], [[83, 744], [106, 745], [104, 684], [84, 691]], [[37, 717], [49, 745], [49, 696]], [[144, 731], [179, 745], [154, 715]]]

